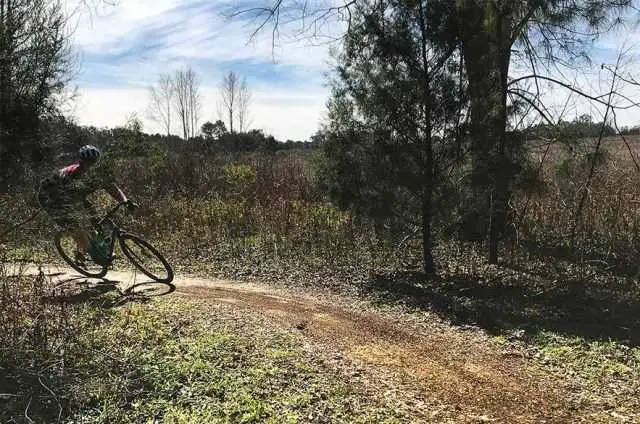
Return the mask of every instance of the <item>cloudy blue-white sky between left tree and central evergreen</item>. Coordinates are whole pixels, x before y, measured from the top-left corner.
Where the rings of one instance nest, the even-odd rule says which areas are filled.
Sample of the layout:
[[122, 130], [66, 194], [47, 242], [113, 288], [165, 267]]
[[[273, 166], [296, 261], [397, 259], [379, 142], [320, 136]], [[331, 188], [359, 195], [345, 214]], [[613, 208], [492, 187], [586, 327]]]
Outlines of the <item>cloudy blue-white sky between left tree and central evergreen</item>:
[[[214, 3], [127, 0], [91, 19], [82, 15], [74, 34], [82, 58], [76, 81], [79, 122], [112, 127], [136, 112], [147, 131], [159, 131], [144, 114], [146, 87], [160, 72], [190, 64], [203, 80], [203, 122], [218, 118], [216, 85], [235, 70], [247, 77], [253, 92], [252, 127], [281, 140], [308, 139], [328, 95], [322, 78], [327, 46], [290, 44], [274, 55], [268, 34], [247, 43], [253, 27], [227, 21], [211, 9]], [[234, 64], [239, 69], [227, 68]]]

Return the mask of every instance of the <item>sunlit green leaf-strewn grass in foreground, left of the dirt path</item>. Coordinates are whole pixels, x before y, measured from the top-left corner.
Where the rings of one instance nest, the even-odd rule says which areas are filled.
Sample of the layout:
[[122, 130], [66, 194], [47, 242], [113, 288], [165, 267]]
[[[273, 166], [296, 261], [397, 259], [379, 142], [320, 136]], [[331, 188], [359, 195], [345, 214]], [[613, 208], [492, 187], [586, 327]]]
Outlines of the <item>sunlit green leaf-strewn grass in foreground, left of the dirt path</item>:
[[83, 305], [73, 319], [77, 331], [64, 353], [36, 361], [29, 371], [3, 356], [11, 372], [0, 387], [11, 396], [0, 397], [0, 422], [54, 422], [58, 416], [82, 423], [407, 418], [346, 382], [300, 336], [259, 316], [172, 298], [111, 309]]

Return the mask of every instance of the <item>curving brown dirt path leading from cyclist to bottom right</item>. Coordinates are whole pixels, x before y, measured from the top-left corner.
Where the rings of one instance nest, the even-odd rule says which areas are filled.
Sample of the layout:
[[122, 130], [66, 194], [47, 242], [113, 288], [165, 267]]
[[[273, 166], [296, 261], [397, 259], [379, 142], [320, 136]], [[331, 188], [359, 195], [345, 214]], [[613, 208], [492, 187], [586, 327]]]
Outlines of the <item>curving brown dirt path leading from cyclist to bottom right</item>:
[[[22, 270], [36, 273], [37, 269]], [[67, 269], [43, 269], [55, 284], [86, 282]], [[17, 270], [12, 270], [17, 272]], [[154, 287], [141, 276], [110, 272], [120, 287]], [[172, 295], [265, 314], [311, 342], [362, 364], [372, 381], [397, 390], [422, 411], [416, 422], [581, 422], [561, 384], [483, 337], [445, 325], [418, 326], [317, 296], [292, 295], [256, 283], [178, 276]], [[156, 287], [160, 292], [162, 286]], [[164, 292], [166, 292], [166, 286]], [[392, 384], [389, 384], [389, 379]]]

